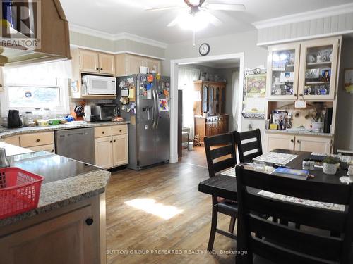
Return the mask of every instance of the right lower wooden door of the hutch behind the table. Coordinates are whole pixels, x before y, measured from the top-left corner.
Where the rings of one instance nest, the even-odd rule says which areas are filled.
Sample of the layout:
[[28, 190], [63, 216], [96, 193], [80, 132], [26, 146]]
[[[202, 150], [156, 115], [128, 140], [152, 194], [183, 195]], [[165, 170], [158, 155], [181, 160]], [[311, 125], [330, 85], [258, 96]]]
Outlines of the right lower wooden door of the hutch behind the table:
[[297, 136], [295, 137], [295, 150], [330, 154], [331, 142], [330, 138]]

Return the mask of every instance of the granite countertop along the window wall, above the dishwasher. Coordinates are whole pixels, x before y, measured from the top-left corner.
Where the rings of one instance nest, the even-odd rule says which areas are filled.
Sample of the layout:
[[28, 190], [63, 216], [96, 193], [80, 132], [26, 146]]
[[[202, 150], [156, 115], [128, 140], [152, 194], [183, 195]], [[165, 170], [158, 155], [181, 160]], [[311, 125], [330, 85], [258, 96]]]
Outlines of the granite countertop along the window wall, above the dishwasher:
[[49, 125], [48, 127], [20, 127], [20, 128], [7, 128], [0, 126], [0, 139], [4, 139], [6, 137], [15, 136], [17, 134], [25, 134], [25, 133], [35, 133], [35, 132], [47, 132], [47, 131], [55, 131], [55, 130], [72, 130], [75, 128], [83, 128], [83, 127], [106, 127], [109, 125], [125, 125], [129, 124], [129, 121], [122, 122], [88, 122], [85, 125]]

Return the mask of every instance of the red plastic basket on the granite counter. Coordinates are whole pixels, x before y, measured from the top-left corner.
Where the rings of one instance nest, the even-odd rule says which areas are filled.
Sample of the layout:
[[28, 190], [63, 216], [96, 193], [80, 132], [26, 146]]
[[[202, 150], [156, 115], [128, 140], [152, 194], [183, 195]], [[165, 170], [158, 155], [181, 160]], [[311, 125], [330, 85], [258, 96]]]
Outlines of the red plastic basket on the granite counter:
[[20, 168], [0, 169], [0, 219], [37, 208], [43, 180]]

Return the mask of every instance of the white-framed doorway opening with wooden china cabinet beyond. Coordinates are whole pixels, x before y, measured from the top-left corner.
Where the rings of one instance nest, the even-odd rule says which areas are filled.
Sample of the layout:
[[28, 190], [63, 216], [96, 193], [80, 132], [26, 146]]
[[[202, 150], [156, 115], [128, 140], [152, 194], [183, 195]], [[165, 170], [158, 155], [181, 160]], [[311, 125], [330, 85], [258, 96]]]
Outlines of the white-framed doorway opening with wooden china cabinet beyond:
[[244, 54], [175, 60], [171, 69], [170, 161], [207, 167], [203, 138], [241, 130]]

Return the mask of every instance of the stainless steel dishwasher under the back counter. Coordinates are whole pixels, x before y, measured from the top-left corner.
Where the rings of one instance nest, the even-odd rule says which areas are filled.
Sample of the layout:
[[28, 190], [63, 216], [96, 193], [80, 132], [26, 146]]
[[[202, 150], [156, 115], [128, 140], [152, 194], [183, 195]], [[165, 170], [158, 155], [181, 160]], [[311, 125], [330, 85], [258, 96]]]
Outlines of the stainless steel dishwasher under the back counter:
[[95, 164], [95, 137], [92, 127], [55, 131], [56, 154]]

